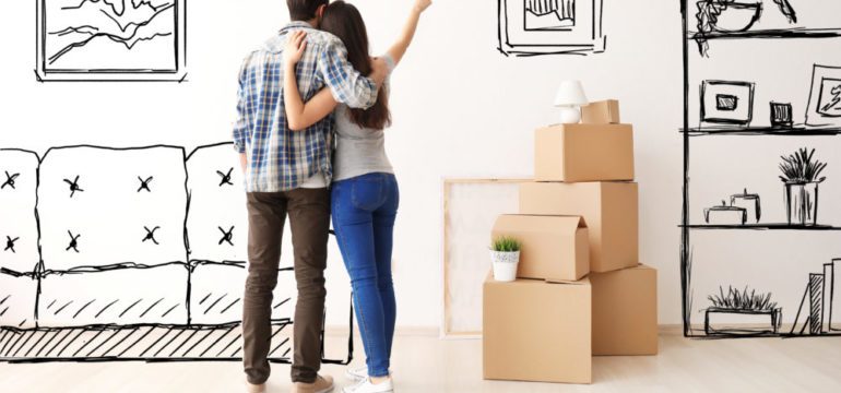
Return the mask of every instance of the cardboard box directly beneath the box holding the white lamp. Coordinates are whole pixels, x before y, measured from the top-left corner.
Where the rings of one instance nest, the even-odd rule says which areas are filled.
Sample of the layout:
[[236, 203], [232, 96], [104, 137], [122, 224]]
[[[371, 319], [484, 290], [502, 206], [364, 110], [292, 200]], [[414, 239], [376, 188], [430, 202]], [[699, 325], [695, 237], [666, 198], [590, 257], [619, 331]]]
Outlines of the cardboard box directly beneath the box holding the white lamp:
[[590, 235], [590, 271], [639, 264], [638, 189], [635, 182], [520, 184], [520, 213], [580, 215]]

